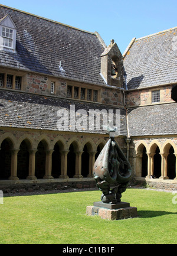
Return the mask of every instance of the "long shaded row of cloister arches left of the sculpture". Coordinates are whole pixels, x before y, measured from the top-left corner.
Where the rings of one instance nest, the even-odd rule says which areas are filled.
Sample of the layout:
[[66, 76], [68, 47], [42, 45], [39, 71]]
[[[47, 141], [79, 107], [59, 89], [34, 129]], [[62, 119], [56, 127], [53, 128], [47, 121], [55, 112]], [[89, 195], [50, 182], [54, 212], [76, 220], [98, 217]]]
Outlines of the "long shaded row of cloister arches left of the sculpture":
[[0, 141], [0, 180], [93, 177], [92, 167], [104, 144], [105, 140], [94, 144], [91, 139], [81, 144], [74, 137], [51, 142], [45, 137], [15, 141], [7, 136]]

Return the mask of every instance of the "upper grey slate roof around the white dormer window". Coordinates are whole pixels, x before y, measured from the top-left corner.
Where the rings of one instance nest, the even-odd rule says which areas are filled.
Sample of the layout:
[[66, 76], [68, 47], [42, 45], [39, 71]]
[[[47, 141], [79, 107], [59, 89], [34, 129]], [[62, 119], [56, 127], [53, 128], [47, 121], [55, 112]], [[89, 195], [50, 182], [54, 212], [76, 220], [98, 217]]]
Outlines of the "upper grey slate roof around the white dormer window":
[[0, 5], [0, 20], [7, 14], [17, 26], [17, 44], [15, 52], [0, 51], [0, 66], [105, 85], [100, 76], [104, 46], [96, 33]]

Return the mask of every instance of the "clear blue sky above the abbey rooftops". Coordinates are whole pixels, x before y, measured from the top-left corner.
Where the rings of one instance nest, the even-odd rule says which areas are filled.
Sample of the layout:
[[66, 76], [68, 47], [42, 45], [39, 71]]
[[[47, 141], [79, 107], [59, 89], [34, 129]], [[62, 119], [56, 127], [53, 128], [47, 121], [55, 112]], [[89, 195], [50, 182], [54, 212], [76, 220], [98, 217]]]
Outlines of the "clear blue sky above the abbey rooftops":
[[97, 31], [107, 45], [114, 39], [122, 54], [133, 37], [177, 26], [176, 0], [0, 0], [0, 4]]

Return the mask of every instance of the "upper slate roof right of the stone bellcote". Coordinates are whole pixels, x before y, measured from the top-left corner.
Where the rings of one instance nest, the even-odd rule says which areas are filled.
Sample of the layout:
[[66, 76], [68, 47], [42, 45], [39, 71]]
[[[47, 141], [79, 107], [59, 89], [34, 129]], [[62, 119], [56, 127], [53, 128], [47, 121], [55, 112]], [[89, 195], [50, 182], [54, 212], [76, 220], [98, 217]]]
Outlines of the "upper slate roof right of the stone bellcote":
[[136, 39], [123, 55], [128, 89], [177, 83], [177, 27]]

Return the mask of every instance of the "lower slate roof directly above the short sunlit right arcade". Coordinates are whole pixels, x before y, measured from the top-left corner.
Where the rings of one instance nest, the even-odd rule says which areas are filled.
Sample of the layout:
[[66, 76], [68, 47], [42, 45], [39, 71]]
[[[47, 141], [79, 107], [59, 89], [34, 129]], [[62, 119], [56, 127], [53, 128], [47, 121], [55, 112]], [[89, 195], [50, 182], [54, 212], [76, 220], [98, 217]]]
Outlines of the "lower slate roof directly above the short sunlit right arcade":
[[128, 109], [130, 136], [176, 134], [177, 103]]

